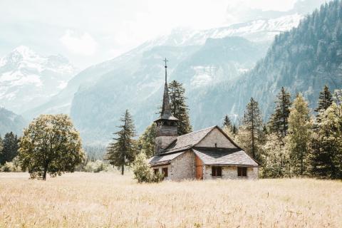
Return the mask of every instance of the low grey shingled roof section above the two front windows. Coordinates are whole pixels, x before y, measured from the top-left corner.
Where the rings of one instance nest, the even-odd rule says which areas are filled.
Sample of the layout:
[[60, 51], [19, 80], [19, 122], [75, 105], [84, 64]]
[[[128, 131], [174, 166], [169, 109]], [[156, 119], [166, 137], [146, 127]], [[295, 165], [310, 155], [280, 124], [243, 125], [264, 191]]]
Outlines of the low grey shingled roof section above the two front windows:
[[259, 166], [256, 161], [239, 148], [194, 147], [192, 151], [202, 160], [203, 165]]

